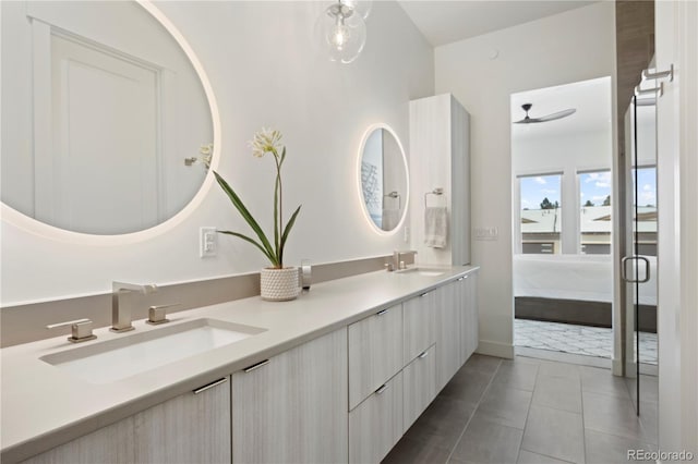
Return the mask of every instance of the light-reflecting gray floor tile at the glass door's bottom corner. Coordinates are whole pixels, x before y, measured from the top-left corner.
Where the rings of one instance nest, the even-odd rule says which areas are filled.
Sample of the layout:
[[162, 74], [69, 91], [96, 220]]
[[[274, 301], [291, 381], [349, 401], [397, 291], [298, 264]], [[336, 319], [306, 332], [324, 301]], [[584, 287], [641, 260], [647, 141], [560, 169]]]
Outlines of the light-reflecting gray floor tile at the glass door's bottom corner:
[[588, 391], [582, 392], [582, 400], [586, 428], [640, 441], [648, 440], [630, 400]]

